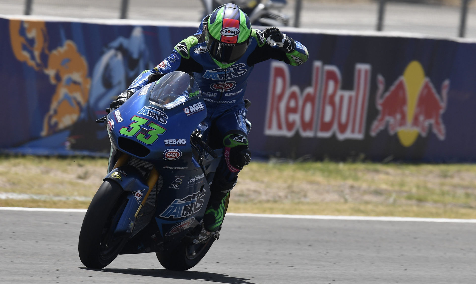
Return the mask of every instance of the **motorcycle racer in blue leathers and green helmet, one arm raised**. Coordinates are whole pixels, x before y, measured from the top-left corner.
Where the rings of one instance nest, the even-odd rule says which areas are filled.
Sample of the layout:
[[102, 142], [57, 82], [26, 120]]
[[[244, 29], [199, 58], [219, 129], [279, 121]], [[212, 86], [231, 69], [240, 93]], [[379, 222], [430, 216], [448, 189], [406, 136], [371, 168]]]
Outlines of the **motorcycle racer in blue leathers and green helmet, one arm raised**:
[[243, 10], [235, 4], [225, 4], [206, 16], [197, 32], [179, 42], [168, 58], [142, 72], [110, 108], [118, 108], [140, 88], [172, 71], [186, 72], [197, 81], [207, 106], [207, 119], [223, 138], [224, 155], [210, 185], [211, 196], [203, 220], [205, 229], [215, 232], [223, 222], [225, 201], [236, 185], [238, 172], [251, 159], [243, 97], [254, 65], [278, 59], [298, 66], [308, 57], [300, 42], [276, 27], [252, 29]]

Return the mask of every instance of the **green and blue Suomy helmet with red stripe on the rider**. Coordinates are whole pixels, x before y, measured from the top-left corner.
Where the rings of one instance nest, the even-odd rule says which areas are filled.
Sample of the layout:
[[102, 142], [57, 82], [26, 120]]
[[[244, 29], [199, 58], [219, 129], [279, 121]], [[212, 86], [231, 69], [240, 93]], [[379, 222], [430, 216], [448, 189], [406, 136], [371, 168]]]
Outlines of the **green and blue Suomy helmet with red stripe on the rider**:
[[208, 18], [205, 30], [208, 53], [223, 69], [233, 65], [245, 54], [250, 36], [251, 22], [235, 4], [218, 7]]

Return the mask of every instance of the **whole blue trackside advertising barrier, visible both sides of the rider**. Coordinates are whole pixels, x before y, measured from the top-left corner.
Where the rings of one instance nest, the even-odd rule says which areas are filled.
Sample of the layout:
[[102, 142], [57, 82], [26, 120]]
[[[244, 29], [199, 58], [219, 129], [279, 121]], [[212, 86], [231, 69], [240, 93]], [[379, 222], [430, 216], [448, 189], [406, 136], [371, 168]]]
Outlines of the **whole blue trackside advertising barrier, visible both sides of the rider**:
[[[111, 100], [193, 26], [0, 18], [0, 148], [108, 155]], [[288, 29], [309, 60], [248, 80], [255, 156], [475, 161], [476, 43]]]

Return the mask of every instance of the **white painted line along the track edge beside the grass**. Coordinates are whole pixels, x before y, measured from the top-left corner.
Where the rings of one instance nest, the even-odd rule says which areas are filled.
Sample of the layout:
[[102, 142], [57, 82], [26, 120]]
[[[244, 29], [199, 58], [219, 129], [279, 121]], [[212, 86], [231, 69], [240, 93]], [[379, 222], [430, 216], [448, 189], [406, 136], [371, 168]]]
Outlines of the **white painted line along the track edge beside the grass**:
[[[29, 207], [0, 207], [0, 210], [36, 211], [36, 212], [79, 212], [79, 213], [85, 213], [86, 212], [86, 209], [29, 208]], [[227, 215], [228, 216], [242, 216], [242, 217], [319, 219], [319, 220], [350, 220], [350, 221], [405, 221], [405, 222], [476, 223], [476, 219], [450, 219], [450, 218], [331, 216], [331, 215], [283, 215], [283, 214], [251, 214], [251, 213], [227, 213]]]

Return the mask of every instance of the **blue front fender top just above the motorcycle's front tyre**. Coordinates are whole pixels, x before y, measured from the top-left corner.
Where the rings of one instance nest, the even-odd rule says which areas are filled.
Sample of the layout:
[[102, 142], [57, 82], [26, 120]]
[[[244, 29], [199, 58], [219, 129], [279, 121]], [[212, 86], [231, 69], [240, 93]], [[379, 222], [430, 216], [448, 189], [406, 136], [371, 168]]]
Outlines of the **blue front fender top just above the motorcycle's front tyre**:
[[104, 177], [103, 181], [105, 180], [113, 180], [117, 182], [122, 189], [126, 191], [134, 192], [138, 190], [146, 190], [147, 192], [149, 189], [144, 176], [142, 176], [136, 167], [130, 165], [119, 166], [118, 168], [113, 169], [106, 177]]

